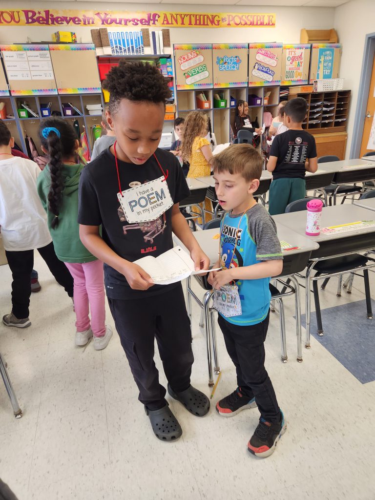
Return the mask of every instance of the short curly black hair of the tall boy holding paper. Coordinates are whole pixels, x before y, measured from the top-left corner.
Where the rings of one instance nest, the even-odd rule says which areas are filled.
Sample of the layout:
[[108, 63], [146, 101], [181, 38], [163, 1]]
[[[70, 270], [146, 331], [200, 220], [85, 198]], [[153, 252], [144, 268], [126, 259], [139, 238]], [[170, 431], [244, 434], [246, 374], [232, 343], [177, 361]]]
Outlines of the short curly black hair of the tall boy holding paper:
[[115, 113], [121, 99], [164, 102], [170, 97], [166, 78], [153, 64], [120, 61], [107, 73], [102, 87], [109, 92], [109, 112]]

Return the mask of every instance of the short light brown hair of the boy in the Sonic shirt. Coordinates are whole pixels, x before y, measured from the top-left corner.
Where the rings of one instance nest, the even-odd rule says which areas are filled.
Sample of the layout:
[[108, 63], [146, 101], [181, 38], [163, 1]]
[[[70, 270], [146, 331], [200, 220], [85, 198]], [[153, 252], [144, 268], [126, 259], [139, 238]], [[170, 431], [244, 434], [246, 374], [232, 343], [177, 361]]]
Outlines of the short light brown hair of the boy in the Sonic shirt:
[[263, 159], [250, 144], [231, 144], [210, 161], [213, 173], [239, 173], [246, 181], [260, 179]]

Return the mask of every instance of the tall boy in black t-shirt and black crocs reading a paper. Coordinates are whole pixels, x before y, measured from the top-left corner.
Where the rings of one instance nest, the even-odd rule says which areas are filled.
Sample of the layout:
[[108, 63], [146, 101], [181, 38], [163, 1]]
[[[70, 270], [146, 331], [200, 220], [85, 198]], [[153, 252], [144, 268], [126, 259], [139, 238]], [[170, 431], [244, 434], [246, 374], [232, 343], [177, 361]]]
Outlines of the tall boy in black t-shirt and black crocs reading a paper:
[[[107, 73], [103, 88], [110, 94], [106, 117], [117, 139], [82, 170], [79, 233], [86, 248], [105, 262], [109, 308], [152, 430], [158, 439], [173, 441], [182, 429], [159, 382], [153, 359], [155, 337], [170, 396], [195, 416], [208, 412], [209, 399], [190, 384], [191, 331], [181, 283], [154, 284], [134, 261], [171, 249], [172, 231], [197, 270], [207, 269], [209, 259], [179, 211], [179, 201], [189, 195], [180, 164], [169, 151], [157, 147], [165, 99], [170, 97], [166, 79], [147, 62], [120, 61]], [[162, 183], [158, 216], [134, 210], [129, 222], [125, 211], [129, 216], [133, 186], [140, 189], [144, 182], [156, 193]], [[118, 198], [119, 192], [124, 200]], [[141, 194], [135, 198], [142, 200]]]

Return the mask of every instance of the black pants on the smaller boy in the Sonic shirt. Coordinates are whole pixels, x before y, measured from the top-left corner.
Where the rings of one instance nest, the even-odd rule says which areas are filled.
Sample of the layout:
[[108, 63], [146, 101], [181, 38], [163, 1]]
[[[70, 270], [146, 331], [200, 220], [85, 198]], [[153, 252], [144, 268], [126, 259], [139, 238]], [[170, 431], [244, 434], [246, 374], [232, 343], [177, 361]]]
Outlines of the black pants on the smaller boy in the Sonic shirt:
[[260, 415], [269, 422], [280, 421], [280, 408], [272, 382], [264, 368], [264, 340], [267, 335], [267, 317], [257, 324], [239, 326], [229, 323], [220, 314], [218, 324], [224, 335], [226, 350], [237, 372], [237, 384], [242, 394], [255, 397]]

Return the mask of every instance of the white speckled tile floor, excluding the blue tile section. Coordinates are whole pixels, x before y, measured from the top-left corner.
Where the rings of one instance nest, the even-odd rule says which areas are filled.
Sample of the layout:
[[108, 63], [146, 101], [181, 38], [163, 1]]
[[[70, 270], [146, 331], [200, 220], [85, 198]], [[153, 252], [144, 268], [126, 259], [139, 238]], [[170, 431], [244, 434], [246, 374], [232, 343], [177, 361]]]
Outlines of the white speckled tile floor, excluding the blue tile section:
[[[375, 498], [375, 381], [361, 384], [314, 338], [297, 363], [292, 299], [285, 300], [286, 364], [280, 361], [277, 313], [266, 339], [266, 367], [288, 428], [276, 452], [257, 459], [246, 443], [258, 411], [224, 419], [214, 410], [235, 387], [219, 330], [222, 376], [209, 414], [196, 418], [168, 399], [183, 436], [160, 442], [137, 401], [117, 334], [103, 351], [75, 347], [70, 299], [37, 252], [34, 267], [42, 290], [31, 296], [31, 327], [0, 325], [0, 349], [23, 410], [15, 420], [0, 381], [0, 477], [19, 500]], [[370, 279], [374, 297], [374, 273]], [[8, 266], [1, 266], [1, 315], [10, 309], [10, 281]], [[337, 298], [331, 281], [320, 294], [322, 308], [364, 298], [355, 287]], [[362, 290], [363, 281], [354, 286]], [[198, 320], [194, 305], [192, 383], [208, 395]], [[161, 368], [160, 378], [165, 383]]]

